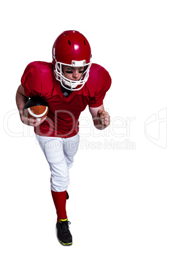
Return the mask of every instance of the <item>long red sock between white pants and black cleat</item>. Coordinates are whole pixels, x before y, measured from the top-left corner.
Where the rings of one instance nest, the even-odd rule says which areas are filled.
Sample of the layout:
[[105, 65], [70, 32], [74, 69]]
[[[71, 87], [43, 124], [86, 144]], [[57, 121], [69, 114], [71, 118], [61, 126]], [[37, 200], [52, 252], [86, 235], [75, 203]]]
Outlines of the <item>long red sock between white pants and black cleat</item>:
[[55, 192], [51, 190], [51, 194], [56, 208], [57, 222], [59, 222], [59, 220], [65, 220], [67, 218], [67, 213], [65, 210], [67, 197], [66, 191]]

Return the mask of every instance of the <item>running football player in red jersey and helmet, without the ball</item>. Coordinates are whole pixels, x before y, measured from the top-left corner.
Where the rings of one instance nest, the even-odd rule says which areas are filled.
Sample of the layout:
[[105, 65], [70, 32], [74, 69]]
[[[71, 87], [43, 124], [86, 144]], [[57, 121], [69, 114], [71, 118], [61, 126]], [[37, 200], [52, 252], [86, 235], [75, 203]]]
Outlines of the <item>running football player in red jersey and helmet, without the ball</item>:
[[[111, 85], [108, 71], [91, 62], [91, 47], [78, 31], [64, 31], [52, 48], [53, 61], [31, 62], [23, 72], [16, 104], [24, 124], [34, 126], [37, 141], [51, 170], [51, 194], [56, 208], [58, 240], [72, 245], [66, 212], [69, 169], [79, 146], [79, 115], [86, 108], [97, 129], [110, 124], [103, 99]], [[25, 117], [29, 97], [48, 102], [48, 115], [41, 121]]]

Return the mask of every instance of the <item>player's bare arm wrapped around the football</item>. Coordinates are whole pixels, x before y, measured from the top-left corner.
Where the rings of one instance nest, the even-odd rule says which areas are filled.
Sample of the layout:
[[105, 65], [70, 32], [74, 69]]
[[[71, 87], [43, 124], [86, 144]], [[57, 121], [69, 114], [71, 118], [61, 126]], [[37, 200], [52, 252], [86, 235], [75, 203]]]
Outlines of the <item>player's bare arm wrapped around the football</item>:
[[20, 85], [18, 87], [18, 90], [16, 91], [16, 106], [19, 110], [20, 118], [21, 118], [23, 124], [27, 124], [27, 125], [36, 127], [37, 125], [40, 125], [42, 122], [44, 122], [46, 117], [43, 118], [40, 122], [37, 122], [37, 120], [35, 120], [35, 119], [25, 117], [25, 115], [23, 113], [23, 108], [28, 99], [29, 98], [25, 95], [22, 85]]

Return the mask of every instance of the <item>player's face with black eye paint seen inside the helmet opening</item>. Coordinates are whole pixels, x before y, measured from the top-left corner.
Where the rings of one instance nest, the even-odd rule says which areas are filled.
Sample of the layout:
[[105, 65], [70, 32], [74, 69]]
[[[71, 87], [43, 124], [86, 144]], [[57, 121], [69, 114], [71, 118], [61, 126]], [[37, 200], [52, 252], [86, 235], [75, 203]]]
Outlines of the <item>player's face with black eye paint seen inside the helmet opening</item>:
[[63, 75], [65, 78], [68, 78], [73, 81], [79, 81], [81, 79], [81, 75], [84, 72], [84, 67], [70, 67], [70, 66], [62, 66]]

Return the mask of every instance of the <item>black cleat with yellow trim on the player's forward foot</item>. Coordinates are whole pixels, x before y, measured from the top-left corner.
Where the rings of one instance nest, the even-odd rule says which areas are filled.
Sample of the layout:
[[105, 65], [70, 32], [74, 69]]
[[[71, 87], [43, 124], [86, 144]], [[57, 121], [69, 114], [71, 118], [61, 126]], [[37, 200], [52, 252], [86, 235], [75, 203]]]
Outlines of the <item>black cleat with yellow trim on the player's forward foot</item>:
[[58, 240], [62, 245], [72, 245], [72, 235], [69, 231], [70, 222], [66, 218], [56, 223]]

